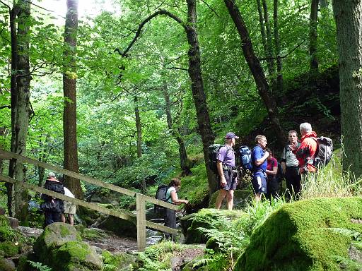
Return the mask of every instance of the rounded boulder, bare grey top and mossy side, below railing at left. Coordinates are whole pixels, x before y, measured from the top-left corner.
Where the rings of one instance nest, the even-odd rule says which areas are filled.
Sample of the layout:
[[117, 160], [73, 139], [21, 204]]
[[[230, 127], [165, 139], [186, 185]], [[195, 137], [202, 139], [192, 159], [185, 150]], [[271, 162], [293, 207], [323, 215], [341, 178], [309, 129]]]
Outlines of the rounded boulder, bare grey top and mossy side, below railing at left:
[[33, 248], [40, 262], [53, 270], [103, 269], [103, 262], [94, 248], [82, 242], [78, 231], [69, 224], [48, 225]]

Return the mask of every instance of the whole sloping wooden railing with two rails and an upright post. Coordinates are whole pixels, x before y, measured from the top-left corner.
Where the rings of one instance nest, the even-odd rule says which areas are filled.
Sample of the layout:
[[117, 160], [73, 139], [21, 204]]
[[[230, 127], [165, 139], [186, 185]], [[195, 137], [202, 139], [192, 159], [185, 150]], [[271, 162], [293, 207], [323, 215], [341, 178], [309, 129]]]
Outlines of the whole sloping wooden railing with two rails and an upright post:
[[[13, 152], [7, 152], [6, 150], [0, 149], [0, 159], [16, 159], [18, 162], [28, 163], [28, 164], [34, 164], [39, 167], [43, 167], [45, 169], [49, 169], [51, 171], [55, 171], [60, 174], [64, 174], [66, 176], [71, 176], [75, 179], [79, 179], [81, 181], [86, 181], [88, 183], [95, 184], [96, 186], [100, 186], [103, 188], [108, 188], [111, 191], [117, 191], [119, 193], [122, 193], [124, 195], [129, 195], [131, 197], [136, 197], [136, 215], [134, 215], [132, 212], [120, 212], [115, 210], [110, 210], [105, 207], [102, 207], [100, 205], [96, 205], [94, 203], [88, 203], [84, 200], [79, 200], [77, 198], [70, 198], [66, 195], [56, 193], [54, 191], [49, 191], [45, 188], [39, 187], [39, 186], [33, 186], [30, 183], [25, 183], [23, 181], [16, 181], [15, 179], [9, 178], [8, 176], [4, 176], [0, 174], [0, 181], [5, 181], [8, 183], [13, 183], [14, 185], [23, 186], [26, 189], [30, 189], [33, 191], [36, 191], [38, 193], [43, 193], [45, 195], [50, 195], [55, 198], [59, 198], [61, 200], [69, 201], [70, 203], [74, 203], [77, 205], [81, 205], [83, 207], [88, 207], [93, 210], [96, 210], [98, 212], [103, 212], [107, 215], [112, 215], [115, 217], [122, 218], [124, 220], [128, 220], [131, 222], [135, 222], [136, 220], [136, 227], [137, 227], [137, 246], [139, 251], [144, 251], [144, 248], [146, 248], [146, 227], [150, 229], [156, 229], [157, 231], [164, 231], [169, 234], [177, 234], [177, 229], [172, 229], [169, 227], [165, 227], [162, 224], [157, 224], [153, 222], [149, 222], [146, 220], [146, 202], [153, 203], [156, 205], [160, 205], [162, 207], [166, 207], [171, 210], [178, 210], [178, 207], [176, 205], [166, 203], [162, 200], [156, 200], [156, 198], [152, 198], [148, 195], [144, 195], [141, 193], [136, 193], [134, 191], [130, 191], [128, 189], [115, 186], [111, 183], [105, 183], [103, 181], [99, 181], [97, 179], [93, 179], [89, 176], [85, 176], [73, 171], [69, 171], [67, 169], [63, 169], [61, 167], [53, 166], [52, 164], [47, 164], [45, 162], [37, 161], [35, 159], [31, 159], [28, 157], [25, 157], [23, 155], [17, 155]], [[14, 195], [19, 196], [19, 195]]]

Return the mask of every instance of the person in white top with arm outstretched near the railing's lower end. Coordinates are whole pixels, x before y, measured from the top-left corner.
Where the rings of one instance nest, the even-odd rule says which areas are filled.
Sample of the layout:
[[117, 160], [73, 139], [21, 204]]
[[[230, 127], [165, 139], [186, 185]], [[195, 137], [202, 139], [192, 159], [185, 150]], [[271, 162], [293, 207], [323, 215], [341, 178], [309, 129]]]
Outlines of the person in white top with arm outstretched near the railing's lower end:
[[[175, 205], [180, 205], [182, 203], [189, 203], [188, 200], [180, 200], [177, 197], [177, 191], [180, 190], [181, 181], [180, 179], [172, 179], [168, 184], [168, 190], [166, 192], [166, 201], [168, 203], [173, 203]], [[176, 229], [176, 211], [165, 208], [165, 226]], [[174, 240], [173, 234], [165, 233], [166, 239]]]

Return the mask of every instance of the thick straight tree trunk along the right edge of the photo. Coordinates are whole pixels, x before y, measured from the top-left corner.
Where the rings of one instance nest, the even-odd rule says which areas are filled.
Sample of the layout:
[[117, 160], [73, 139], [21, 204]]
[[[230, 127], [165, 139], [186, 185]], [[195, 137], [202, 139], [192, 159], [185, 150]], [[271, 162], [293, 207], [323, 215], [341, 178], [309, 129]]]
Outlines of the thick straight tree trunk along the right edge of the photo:
[[362, 176], [362, 2], [334, 0], [332, 4], [339, 53], [342, 164], [357, 179]]

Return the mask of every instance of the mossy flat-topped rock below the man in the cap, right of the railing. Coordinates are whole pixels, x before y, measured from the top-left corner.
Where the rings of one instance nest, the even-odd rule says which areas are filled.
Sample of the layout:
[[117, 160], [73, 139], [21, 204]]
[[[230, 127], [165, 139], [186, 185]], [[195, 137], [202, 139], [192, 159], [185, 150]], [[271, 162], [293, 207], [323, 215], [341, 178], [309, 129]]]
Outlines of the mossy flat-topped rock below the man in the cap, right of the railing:
[[205, 229], [222, 229], [226, 223], [238, 219], [243, 215], [240, 210], [202, 209], [199, 212], [186, 215], [181, 219], [182, 232], [185, 243], [206, 243], [208, 237], [200, 227]]

